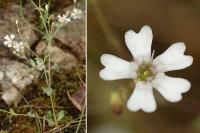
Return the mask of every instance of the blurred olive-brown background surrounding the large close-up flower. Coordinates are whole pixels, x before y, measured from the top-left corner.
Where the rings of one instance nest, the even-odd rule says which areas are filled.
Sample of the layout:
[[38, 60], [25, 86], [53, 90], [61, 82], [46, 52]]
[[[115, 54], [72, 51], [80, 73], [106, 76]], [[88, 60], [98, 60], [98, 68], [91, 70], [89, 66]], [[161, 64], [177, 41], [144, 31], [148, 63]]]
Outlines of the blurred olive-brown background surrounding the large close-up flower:
[[[179, 103], [165, 101], [155, 90], [154, 113], [130, 112], [116, 116], [110, 93], [126, 88], [127, 80], [103, 81], [100, 56], [114, 54], [131, 61], [124, 33], [153, 30], [155, 56], [174, 42], [185, 42], [186, 54], [194, 57], [187, 69], [167, 75], [191, 81], [192, 87]], [[199, 133], [200, 132], [200, 1], [199, 0], [89, 0], [88, 1], [88, 132], [89, 133]]]

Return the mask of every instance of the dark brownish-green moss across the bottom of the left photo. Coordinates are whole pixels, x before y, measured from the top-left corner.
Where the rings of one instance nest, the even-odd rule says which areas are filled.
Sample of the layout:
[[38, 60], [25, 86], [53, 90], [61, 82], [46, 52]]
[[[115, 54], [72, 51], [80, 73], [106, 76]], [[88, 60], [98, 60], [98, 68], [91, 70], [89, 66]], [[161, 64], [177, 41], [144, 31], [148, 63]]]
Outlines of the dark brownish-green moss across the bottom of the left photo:
[[[61, 109], [64, 109], [66, 112], [65, 117], [59, 122], [59, 124], [69, 123], [80, 116], [80, 112], [71, 104], [71, 101], [67, 97], [67, 91], [74, 93], [83, 84], [80, 78], [85, 81], [84, 65], [78, 65], [77, 67], [74, 67], [72, 71], [52, 71], [52, 88], [55, 90], [54, 105], [56, 106], [56, 112], [59, 112]], [[36, 111], [39, 116], [44, 116], [45, 112], [51, 110], [50, 98], [43, 93], [41, 89], [42, 85], [45, 85], [44, 79], [41, 79], [40, 82], [33, 85], [32, 90], [24, 95], [29, 104], [32, 105], [32, 109]], [[58, 106], [59, 108], [57, 108]], [[22, 100], [17, 107], [12, 108], [19, 114], [27, 114], [27, 112], [30, 111], [30, 107], [27, 106], [27, 103], [24, 100]], [[9, 110], [9, 107], [4, 109]], [[8, 119], [9, 115], [0, 113], [1, 122], [3, 122], [2, 120]], [[13, 116], [9, 126], [12, 133], [34, 133], [35, 129], [37, 129], [36, 120], [24, 116]], [[46, 130], [50, 129], [48, 125], [46, 125], [46, 127]], [[65, 132], [72, 132], [75, 131], [75, 129], [76, 125], [70, 126], [65, 129]]]

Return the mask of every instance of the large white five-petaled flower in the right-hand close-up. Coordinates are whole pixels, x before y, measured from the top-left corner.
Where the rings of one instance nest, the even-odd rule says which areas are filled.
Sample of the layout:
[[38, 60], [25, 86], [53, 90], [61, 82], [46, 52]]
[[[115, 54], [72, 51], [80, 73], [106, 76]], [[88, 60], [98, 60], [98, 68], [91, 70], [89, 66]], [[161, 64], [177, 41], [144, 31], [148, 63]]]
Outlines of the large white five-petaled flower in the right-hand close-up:
[[127, 108], [131, 111], [142, 109], [145, 112], [154, 112], [156, 110], [153, 88], [167, 101], [178, 102], [182, 99], [182, 93], [187, 92], [191, 87], [186, 79], [173, 78], [164, 74], [164, 72], [184, 69], [192, 64], [193, 57], [184, 55], [185, 44], [174, 43], [153, 60], [152, 39], [153, 34], [149, 26], [144, 26], [139, 33], [130, 30], [125, 34], [125, 42], [134, 61], [128, 62], [110, 54], [101, 56], [101, 63], [105, 66], [100, 71], [102, 79], [134, 79], [135, 89], [127, 102]]

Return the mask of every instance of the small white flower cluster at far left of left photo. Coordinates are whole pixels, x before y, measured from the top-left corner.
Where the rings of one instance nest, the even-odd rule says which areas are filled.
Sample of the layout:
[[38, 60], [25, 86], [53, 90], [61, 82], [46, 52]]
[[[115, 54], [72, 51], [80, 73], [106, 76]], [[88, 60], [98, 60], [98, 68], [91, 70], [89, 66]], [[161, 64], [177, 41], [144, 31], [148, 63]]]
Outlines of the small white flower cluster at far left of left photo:
[[10, 34], [4, 37], [5, 41], [3, 42], [4, 45], [8, 48], [13, 49], [13, 53], [16, 55], [22, 55], [25, 52], [25, 45], [23, 42], [19, 42], [15, 40], [15, 35]]

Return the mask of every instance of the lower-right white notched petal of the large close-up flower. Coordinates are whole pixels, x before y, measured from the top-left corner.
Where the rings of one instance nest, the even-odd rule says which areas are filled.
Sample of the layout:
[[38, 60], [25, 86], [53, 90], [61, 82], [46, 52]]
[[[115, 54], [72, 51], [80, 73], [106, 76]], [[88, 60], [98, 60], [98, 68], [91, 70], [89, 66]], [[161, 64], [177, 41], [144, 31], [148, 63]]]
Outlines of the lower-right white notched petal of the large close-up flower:
[[170, 102], [178, 102], [182, 99], [182, 93], [187, 92], [191, 84], [182, 78], [172, 78], [164, 73], [158, 73], [152, 81], [152, 86]]

